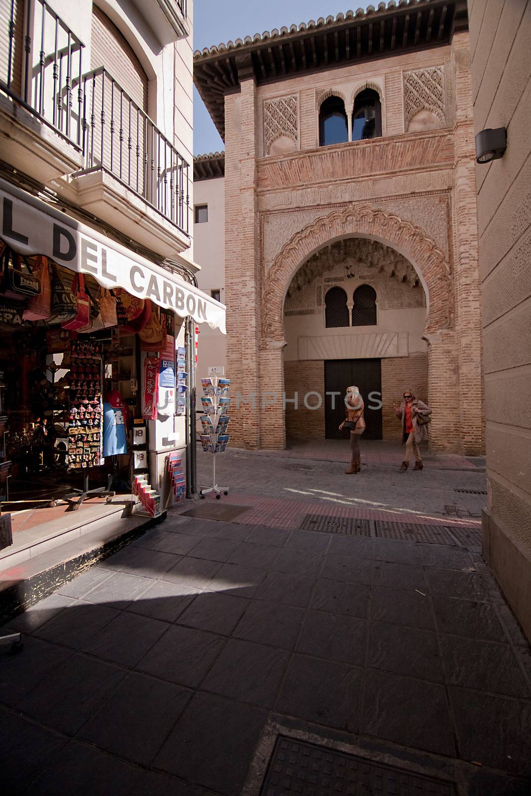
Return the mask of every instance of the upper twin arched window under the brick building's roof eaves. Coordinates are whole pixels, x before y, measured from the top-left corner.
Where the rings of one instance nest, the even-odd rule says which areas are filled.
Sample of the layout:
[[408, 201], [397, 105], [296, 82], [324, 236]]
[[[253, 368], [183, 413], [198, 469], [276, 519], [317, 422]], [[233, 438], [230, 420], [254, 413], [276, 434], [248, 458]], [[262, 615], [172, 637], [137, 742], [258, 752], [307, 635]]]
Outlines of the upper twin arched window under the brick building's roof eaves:
[[352, 116], [346, 115], [345, 103], [330, 96], [319, 108], [319, 146], [381, 137], [381, 102], [373, 88], [365, 88], [354, 100]]

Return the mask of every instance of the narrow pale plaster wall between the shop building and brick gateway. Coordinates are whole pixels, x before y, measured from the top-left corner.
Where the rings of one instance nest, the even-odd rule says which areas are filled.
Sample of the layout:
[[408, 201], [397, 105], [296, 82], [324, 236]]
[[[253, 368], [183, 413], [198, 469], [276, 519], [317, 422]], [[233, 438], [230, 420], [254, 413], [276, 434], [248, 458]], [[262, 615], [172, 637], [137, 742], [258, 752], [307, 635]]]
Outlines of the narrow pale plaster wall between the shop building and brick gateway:
[[[198, 180], [194, 183], [196, 205], [208, 205], [209, 220], [193, 224], [194, 259], [201, 271], [197, 283], [202, 291], [219, 290], [225, 304], [225, 179]], [[208, 376], [209, 365], [225, 365], [227, 343], [225, 334], [210, 329], [206, 323], [199, 327], [197, 346], [197, 379]], [[231, 374], [227, 371], [227, 376]]]

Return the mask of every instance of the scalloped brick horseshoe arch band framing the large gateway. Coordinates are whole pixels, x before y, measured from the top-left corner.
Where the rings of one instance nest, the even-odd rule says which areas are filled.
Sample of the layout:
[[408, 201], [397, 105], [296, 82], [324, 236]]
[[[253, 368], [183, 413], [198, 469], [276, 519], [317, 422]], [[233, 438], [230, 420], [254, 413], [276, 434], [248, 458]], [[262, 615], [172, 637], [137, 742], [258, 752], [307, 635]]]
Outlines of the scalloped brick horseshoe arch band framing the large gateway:
[[424, 332], [448, 329], [453, 322], [451, 268], [435, 240], [410, 221], [370, 205], [348, 205], [307, 224], [275, 257], [262, 290], [262, 346], [285, 345], [283, 305], [291, 279], [306, 260], [334, 240], [367, 237], [379, 240], [415, 267], [428, 303]]

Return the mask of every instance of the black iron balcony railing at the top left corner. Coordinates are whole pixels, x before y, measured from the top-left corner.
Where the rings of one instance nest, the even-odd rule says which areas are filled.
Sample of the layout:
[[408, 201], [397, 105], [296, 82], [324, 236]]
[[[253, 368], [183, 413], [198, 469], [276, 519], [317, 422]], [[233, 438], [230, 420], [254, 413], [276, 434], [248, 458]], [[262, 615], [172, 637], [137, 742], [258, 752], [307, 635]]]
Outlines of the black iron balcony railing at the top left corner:
[[73, 85], [83, 74], [83, 42], [45, 0], [4, 2], [9, 6], [2, 13], [7, 36], [0, 47], [0, 88], [81, 146], [83, 95]]

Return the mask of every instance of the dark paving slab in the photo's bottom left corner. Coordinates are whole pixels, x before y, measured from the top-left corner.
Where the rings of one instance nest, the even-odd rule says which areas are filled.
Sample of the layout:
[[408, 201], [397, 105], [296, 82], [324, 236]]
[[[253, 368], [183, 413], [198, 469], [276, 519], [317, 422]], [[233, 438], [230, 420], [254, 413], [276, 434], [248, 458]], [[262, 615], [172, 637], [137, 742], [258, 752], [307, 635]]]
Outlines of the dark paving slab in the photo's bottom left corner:
[[2, 792], [6, 796], [26, 793], [29, 784], [49, 765], [67, 740], [57, 732], [0, 708]]

